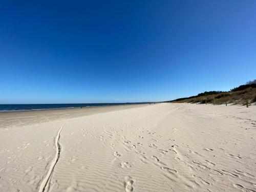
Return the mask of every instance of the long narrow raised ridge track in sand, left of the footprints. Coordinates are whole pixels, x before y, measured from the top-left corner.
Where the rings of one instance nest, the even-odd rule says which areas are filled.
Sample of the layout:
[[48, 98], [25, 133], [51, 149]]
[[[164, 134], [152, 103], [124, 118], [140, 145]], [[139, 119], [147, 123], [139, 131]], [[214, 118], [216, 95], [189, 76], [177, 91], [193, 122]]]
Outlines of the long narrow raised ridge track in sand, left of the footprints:
[[59, 138], [60, 138], [60, 133], [63, 129], [63, 125], [64, 125], [64, 123], [61, 125], [61, 127], [60, 127], [60, 129], [59, 129], [59, 131], [58, 131], [58, 133], [55, 137], [55, 147], [56, 147], [55, 157], [52, 161], [52, 164], [49, 168], [49, 171], [48, 171], [45, 179], [42, 180], [42, 182], [41, 182], [41, 185], [40, 185], [39, 190], [38, 190], [39, 192], [44, 192], [44, 191], [49, 190], [49, 187], [50, 187], [49, 183], [50, 183], [50, 180], [51, 180], [51, 177], [52, 177], [52, 174], [53, 174], [53, 169], [54, 169], [55, 165], [57, 164], [57, 162], [59, 160], [59, 156], [60, 156], [60, 152], [61, 152], [61, 145], [59, 143]]

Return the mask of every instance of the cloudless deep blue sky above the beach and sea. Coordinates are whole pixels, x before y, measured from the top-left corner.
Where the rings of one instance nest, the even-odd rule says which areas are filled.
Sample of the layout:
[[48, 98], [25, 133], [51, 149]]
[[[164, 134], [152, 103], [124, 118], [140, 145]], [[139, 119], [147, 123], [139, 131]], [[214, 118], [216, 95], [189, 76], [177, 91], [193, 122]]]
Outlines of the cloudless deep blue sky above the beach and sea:
[[256, 77], [256, 1], [2, 1], [0, 103], [163, 101]]

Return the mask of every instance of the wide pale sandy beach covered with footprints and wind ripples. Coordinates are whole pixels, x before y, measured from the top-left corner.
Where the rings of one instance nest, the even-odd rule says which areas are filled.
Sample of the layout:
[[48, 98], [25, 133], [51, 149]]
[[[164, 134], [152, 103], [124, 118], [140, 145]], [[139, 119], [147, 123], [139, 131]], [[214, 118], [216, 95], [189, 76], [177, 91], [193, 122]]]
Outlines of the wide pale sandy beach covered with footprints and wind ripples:
[[256, 191], [256, 106], [0, 114], [0, 191]]

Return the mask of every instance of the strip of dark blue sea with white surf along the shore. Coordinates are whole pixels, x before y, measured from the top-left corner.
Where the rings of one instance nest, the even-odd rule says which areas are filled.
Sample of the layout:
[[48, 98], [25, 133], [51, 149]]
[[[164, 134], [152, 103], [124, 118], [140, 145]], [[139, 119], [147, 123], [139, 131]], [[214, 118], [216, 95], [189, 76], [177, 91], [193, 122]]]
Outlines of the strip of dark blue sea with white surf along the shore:
[[123, 104], [143, 104], [147, 102], [137, 103], [75, 103], [75, 104], [0, 104], [0, 112], [20, 112], [20, 111], [39, 111], [69, 108], [85, 108], [92, 106], [108, 106]]

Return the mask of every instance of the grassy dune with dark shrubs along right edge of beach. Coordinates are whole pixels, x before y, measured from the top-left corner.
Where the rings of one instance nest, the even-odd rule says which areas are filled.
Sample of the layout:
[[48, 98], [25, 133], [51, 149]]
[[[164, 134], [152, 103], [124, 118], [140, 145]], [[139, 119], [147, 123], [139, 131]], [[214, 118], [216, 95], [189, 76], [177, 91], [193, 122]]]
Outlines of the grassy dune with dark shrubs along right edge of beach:
[[248, 81], [246, 84], [233, 88], [228, 92], [223, 91], [206, 91], [196, 96], [179, 98], [166, 102], [189, 102], [201, 104], [243, 104], [250, 105], [256, 102], [256, 80]]

